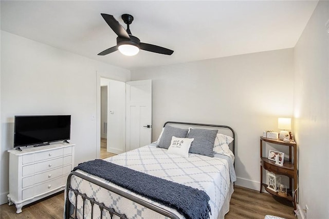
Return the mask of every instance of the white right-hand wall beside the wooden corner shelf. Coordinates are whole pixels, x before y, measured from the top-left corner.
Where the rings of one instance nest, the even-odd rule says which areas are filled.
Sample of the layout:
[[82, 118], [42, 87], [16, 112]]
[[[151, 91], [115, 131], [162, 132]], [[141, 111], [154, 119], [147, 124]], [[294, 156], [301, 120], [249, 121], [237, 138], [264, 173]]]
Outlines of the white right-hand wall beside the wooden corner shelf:
[[299, 205], [307, 218], [329, 215], [329, 2], [320, 1], [295, 47], [294, 116]]

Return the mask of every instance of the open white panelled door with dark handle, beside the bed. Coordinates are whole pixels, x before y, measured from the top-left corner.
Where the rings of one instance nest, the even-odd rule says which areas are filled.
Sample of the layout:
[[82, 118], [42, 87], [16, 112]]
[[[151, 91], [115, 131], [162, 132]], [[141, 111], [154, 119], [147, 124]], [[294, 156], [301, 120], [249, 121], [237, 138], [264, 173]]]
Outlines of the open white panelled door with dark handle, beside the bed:
[[126, 151], [152, 141], [152, 81], [126, 82]]

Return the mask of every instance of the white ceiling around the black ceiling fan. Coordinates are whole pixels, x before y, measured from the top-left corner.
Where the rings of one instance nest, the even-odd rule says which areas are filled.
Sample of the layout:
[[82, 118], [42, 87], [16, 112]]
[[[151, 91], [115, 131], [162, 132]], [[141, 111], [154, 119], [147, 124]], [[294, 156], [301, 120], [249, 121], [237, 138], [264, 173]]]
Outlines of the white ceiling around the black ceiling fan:
[[[291, 48], [318, 1], [1, 1], [1, 29], [126, 69]], [[134, 16], [141, 42], [174, 50], [97, 56], [116, 45], [101, 13]]]

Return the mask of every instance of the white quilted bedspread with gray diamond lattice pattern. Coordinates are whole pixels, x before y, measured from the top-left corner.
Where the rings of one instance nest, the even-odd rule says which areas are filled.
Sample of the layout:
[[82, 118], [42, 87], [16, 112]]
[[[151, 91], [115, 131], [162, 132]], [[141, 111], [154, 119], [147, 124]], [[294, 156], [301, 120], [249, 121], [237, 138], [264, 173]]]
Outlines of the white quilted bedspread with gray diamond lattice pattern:
[[[229, 192], [229, 164], [227, 160], [222, 158], [191, 153], [189, 154], [189, 157], [185, 158], [178, 155], [168, 154], [167, 149], [156, 148], [154, 145], [147, 145], [105, 160], [136, 171], [204, 190], [210, 197], [209, 204], [212, 213], [210, 218], [217, 218], [218, 212], [222, 208], [224, 199]], [[92, 176], [90, 174], [86, 175]], [[113, 185], [111, 182], [99, 177], [92, 177], [97, 178], [106, 184]], [[87, 195], [93, 194], [96, 196], [96, 200], [103, 202], [105, 205], [111, 206], [116, 211], [119, 211], [119, 213], [121, 213], [119, 210], [121, 206], [121, 209], [124, 209], [123, 213], [125, 213], [128, 218], [164, 218], [164, 216], [158, 215], [152, 210], [146, 209], [131, 200], [125, 199], [121, 196], [119, 197], [109, 191], [104, 191], [104, 189], [82, 180], [81, 178], [72, 177], [71, 186], [72, 188], [79, 189], [80, 192], [86, 193]], [[116, 187], [123, 191], [127, 191], [118, 186]], [[130, 191], [127, 192], [134, 194]], [[145, 200], [149, 200], [137, 194], [135, 195]], [[75, 199], [72, 192], [69, 194], [69, 197], [71, 201]], [[150, 200], [150, 202], [168, 209], [180, 218], [183, 218], [183, 216], [174, 209], [155, 203], [152, 200]], [[80, 202], [80, 204], [81, 203], [82, 202]], [[130, 210], [127, 210], [128, 205], [132, 206], [132, 208], [129, 208]], [[82, 206], [79, 206], [78, 209], [82, 212]], [[86, 207], [85, 213], [90, 213], [90, 207]], [[100, 218], [98, 211], [94, 211], [94, 218]], [[103, 214], [103, 218], [110, 217]]]

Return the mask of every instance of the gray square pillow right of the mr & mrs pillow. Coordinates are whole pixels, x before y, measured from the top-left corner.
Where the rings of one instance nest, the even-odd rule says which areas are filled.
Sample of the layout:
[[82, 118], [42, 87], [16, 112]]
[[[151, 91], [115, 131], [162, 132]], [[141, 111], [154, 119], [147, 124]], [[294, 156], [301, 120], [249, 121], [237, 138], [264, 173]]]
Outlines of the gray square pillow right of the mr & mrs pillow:
[[213, 157], [213, 148], [218, 130], [191, 129], [188, 138], [194, 138], [189, 153]]

